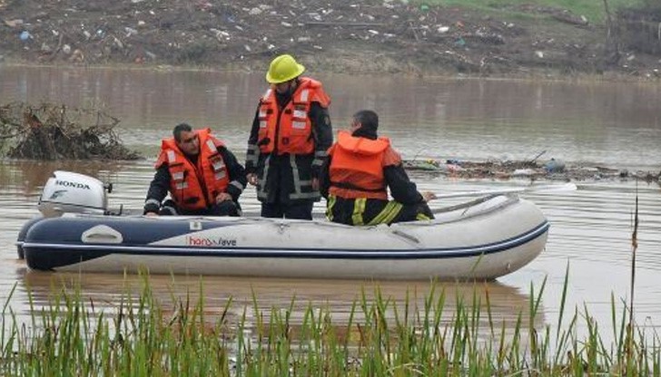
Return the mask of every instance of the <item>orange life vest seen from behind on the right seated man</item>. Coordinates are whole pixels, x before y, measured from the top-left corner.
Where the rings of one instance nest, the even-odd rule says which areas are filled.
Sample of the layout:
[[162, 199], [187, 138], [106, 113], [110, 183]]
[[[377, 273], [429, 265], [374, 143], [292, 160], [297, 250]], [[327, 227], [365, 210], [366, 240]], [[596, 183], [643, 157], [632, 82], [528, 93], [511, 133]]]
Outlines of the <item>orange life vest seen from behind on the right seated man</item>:
[[[370, 140], [338, 133], [338, 141], [329, 149], [331, 188], [329, 193], [340, 198], [377, 198], [388, 200], [383, 168], [390, 150], [390, 140]], [[395, 154], [396, 156], [399, 156]], [[390, 161], [392, 162], [392, 161]]]

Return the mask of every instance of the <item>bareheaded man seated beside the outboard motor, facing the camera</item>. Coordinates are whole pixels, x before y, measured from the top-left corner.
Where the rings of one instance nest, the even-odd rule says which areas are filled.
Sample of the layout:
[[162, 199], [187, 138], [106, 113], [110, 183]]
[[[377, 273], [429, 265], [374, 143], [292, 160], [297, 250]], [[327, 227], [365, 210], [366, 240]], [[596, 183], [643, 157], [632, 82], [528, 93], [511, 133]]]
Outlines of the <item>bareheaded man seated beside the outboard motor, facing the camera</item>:
[[[209, 129], [181, 123], [164, 139], [144, 214], [240, 216], [245, 170]], [[170, 193], [172, 199], [163, 198]]]

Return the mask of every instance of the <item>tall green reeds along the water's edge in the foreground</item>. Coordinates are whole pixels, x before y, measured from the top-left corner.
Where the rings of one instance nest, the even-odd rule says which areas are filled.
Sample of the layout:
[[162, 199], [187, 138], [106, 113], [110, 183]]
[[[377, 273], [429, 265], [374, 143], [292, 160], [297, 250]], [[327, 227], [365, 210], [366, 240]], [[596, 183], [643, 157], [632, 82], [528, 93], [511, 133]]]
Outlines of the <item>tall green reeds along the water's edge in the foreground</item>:
[[[568, 274], [567, 274], [568, 276]], [[565, 282], [565, 287], [567, 287]], [[546, 282], [545, 282], [546, 283]], [[543, 284], [530, 287], [527, 311], [514, 324], [498, 323], [488, 290], [456, 295], [432, 289], [403, 303], [364, 291], [348, 320], [336, 324], [331, 308], [296, 303], [263, 310], [259, 299], [237, 312], [228, 300], [220, 313], [203, 298], [155, 299], [145, 278], [139, 294], [127, 290], [113, 310], [99, 310], [80, 289], [54, 292], [44, 306], [30, 301], [30, 324], [3, 309], [2, 375], [214, 375], [214, 376], [447, 376], [447, 375], [659, 375], [656, 333], [629, 325], [626, 304], [611, 298], [612, 323], [597, 324], [586, 308], [555, 329], [536, 325]], [[200, 285], [199, 297], [203, 285]], [[197, 296], [197, 295], [196, 295]], [[419, 303], [419, 304], [418, 304]], [[448, 309], [451, 306], [451, 310]], [[240, 315], [229, 315], [240, 313]], [[585, 337], [577, 336], [584, 324]], [[603, 326], [603, 327], [602, 327]], [[610, 327], [608, 329], [608, 327]], [[602, 332], [614, 343], [602, 340]]]

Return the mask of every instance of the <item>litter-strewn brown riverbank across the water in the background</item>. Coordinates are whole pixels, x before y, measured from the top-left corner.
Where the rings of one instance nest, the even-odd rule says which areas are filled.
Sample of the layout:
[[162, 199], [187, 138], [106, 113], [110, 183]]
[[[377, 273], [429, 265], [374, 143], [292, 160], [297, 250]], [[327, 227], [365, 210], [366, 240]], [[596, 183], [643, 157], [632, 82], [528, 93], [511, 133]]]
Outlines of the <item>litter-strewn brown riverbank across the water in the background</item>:
[[0, 2], [0, 9], [0, 60], [5, 63], [263, 72], [273, 56], [292, 53], [311, 72], [590, 75], [607, 80], [661, 76], [661, 54], [655, 48], [626, 43], [624, 36], [616, 46], [600, 20], [548, 6], [485, 11], [371, 0], [65, 0]]

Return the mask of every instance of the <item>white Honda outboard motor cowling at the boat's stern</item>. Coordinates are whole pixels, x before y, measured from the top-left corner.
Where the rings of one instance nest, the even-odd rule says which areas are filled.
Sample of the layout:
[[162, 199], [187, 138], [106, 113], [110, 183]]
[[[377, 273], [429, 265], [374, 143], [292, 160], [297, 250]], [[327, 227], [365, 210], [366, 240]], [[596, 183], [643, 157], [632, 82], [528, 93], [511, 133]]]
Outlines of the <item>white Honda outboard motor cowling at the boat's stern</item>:
[[104, 215], [108, 207], [106, 189], [99, 179], [57, 170], [46, 181], [38, 208], [45, 218], [64, 213]]

